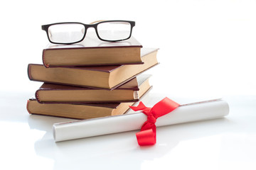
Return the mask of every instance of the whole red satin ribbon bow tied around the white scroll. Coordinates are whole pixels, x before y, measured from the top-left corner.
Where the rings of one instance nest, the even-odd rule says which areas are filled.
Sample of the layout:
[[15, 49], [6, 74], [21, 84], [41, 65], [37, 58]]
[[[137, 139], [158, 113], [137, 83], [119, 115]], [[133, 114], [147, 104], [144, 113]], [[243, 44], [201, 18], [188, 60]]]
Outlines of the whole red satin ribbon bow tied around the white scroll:
[[133, 111], [142, 111], [147, 115], [147, 120], [142, 125], [141, 131], [136, 133], [137, 141], [140, 146], [154, 145], [156, 143], [156, 119], [174, 111], [180, 104], [169, 98], [156, 103], [152, 108], [147, 108], [142, 102], [138, 106], [129, 106]]

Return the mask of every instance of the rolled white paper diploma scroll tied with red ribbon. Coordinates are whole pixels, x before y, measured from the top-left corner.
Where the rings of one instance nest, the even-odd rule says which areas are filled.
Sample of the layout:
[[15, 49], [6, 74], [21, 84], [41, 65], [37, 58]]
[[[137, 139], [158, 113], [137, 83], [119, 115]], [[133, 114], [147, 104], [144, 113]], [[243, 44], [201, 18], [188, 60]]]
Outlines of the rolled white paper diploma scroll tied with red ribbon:
[[[228, 112], [228, 103], [222, 99], [183, 104], [171, 113], [157, 118], [156, 127], [221, 118], [228, 115]], [[55, 123], [53, 125], [53, 137], [55, 142], [60, 142], [139, 130], [146, 119], [144, 113], [130, 113], [68, 123]]]

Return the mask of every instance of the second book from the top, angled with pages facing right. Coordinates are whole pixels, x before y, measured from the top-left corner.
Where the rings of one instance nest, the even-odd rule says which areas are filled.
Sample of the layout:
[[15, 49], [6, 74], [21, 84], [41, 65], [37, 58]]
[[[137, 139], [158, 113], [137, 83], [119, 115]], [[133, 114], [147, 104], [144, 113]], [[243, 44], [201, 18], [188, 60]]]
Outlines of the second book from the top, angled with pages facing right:
[[144, 64], [92, 67], [52, 67], [42, 64], [28, 64], [28, 77], [33, 81], [91, 88], [116, 89], [158, 64], [157, 49], [142, 48]]

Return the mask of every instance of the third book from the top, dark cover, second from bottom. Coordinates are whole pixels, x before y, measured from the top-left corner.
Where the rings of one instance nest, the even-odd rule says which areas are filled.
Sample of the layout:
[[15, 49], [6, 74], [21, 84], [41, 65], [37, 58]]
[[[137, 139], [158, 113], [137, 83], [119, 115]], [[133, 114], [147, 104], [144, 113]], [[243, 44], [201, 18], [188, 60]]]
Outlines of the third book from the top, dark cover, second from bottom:
[[36, 91], [39, 103], [121, 103], [139, 101], [141, 84], [149, 81], [150, 75], [141, 74], [112, 91], [44, 83]]

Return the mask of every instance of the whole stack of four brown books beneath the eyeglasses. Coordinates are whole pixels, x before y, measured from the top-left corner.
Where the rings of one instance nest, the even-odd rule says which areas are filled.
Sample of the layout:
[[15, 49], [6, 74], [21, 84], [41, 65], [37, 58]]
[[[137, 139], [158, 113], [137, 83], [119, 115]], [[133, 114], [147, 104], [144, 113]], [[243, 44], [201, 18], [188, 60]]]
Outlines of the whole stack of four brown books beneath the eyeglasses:
[[43, 82], [28, 100], [28, 113], [75, 119], [122, 115], [151, 89], [150, 75], [142, 73], [158, 64], [157, 51], [133, 37], [50, 44], [43, 64], [28, 64], [28, 78]]

